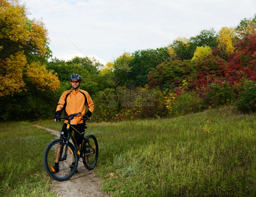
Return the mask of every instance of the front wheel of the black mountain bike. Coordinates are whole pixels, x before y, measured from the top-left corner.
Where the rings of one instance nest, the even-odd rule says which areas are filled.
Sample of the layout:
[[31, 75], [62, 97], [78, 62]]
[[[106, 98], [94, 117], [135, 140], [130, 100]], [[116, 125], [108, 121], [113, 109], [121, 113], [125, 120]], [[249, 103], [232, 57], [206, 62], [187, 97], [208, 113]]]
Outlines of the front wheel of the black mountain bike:
[[[54, 173], [51, 170], [51, 166], [55, 164], [57, 147], [59, 144], [63, 144], [63, 151], [65, 151], [66, 144], [63, 143], [63, 139], [55, 139], [51, 141], [45, 148], [43, 152], [43, 167], [46, 173], [54, 180], [65, 181], [70, 179], [78, 166], [78, 155], [75, 151], [75, 147], [71, 142], [68, 142], [68, 153], [67, 158], [64, 161], [59, 161], [59, 172]], [[61, 153], [61, 158], [63, 158], [64, 153]], [[74, 168], [71, 169], [70, 165], [73, 162], [74, 156]]]

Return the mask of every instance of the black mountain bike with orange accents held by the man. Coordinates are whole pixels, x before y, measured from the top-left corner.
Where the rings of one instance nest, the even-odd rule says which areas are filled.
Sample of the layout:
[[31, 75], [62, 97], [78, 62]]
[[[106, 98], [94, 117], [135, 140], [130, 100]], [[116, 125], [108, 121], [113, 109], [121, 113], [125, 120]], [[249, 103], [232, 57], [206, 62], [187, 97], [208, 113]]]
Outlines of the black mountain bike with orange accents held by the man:
[[[69, 131], [70, 126], [72, 127], [70, 124], [71, 119], [79, 114], [81, 113], [79, 112], [57, 118], [57, 121], [62, 121], [61, 125], [63, 125], [65, 120], [68, 121], [66, 130], [67, 137], [60, 137], [60, 139], [51, 141], [46, 146], [43, 153], [43, 167], [46, 173], [57, 181], [65, 181], [71, 178], [77, 170], [80, 158], [82, 158], [82, 162], [88, 170], [92, 170], [98, 160], [99, 147], [96, 137], [92, 134], [84, 137], [85, 129], [83, 133], [79, 133], [74, 129], [74, 132], [77, 132], [77, 134], [82, 137], [83, 141], [80, 146], [74, 139], [73, 132]], [[86, 123], [85, 128], [87, 128]], [[74, 145], [69, 142], [70, 137]], [[53, 168], [55, 162], [59, 163], [58, 171]]]

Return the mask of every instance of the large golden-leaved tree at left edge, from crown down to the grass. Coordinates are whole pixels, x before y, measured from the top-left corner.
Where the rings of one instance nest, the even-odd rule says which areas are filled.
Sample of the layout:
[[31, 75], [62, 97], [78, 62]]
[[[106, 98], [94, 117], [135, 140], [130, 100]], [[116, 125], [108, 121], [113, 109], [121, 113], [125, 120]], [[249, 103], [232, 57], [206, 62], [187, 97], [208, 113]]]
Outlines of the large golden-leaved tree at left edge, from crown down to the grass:
[[60, 86], [57, 76], [44, 66], [51, 53], [47, 29], [41, 20], [29, 20], [27, 14], [25, 5], [19, 0], [0, 0], [2, 120], [3, 115], [17, 115], [17, 109], [21, 113], [30, 109], [32, 117], [35, 109], [41, 113]]

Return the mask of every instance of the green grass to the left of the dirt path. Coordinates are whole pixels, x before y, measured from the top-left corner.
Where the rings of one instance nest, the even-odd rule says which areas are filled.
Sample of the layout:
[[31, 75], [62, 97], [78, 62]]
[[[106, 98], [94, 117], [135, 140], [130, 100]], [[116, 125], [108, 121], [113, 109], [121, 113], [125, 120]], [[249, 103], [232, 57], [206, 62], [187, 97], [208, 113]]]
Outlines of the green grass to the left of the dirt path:
[[42, 157], [53, 136], [26, 122], [1, 123], [0, 196], [55, 196]]

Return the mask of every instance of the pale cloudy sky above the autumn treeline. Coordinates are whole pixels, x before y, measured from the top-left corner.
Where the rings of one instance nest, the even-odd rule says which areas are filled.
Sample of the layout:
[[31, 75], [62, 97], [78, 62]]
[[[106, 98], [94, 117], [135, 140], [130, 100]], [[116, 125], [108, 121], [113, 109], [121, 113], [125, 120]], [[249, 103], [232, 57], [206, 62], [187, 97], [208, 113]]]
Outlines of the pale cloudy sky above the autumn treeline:
[[48, 29], [53, 58], [96, 58], [156, 49], [177, 37], [235, 27], [256, 13], [255, 0], [21, 0]]

